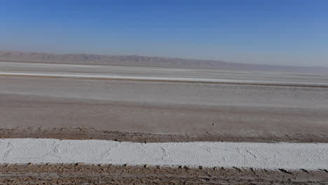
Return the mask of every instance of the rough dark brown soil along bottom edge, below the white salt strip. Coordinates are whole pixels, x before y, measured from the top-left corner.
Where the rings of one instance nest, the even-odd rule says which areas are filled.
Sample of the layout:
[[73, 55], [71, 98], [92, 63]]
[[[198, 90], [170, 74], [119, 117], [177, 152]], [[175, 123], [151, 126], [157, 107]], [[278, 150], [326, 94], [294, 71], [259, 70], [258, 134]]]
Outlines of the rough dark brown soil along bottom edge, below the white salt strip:
[[0, 184], [327, 184], [327, 170], [2, 165]]

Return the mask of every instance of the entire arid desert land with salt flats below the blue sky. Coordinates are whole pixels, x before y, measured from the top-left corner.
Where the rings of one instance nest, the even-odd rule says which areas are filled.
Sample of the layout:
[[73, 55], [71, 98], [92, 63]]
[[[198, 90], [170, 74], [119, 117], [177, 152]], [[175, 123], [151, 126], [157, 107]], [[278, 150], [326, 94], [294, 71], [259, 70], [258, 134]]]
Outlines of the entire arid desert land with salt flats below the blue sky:
[[2, 184], [328, 182], [328, 74], [82, 56], [1, 53]]

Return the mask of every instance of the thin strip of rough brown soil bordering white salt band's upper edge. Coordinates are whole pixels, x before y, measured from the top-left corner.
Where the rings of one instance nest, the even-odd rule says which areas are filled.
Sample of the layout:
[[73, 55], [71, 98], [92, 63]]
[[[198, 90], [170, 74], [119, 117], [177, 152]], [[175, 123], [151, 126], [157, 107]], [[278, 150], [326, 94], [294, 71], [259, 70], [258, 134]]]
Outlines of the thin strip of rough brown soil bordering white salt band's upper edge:
[[114, 132], [92, 128], [0, 129], [0, 138], [104, 139], [119, 142], [316, 142], [325, 143], [322, 135], [156, 135], [138, 132]]

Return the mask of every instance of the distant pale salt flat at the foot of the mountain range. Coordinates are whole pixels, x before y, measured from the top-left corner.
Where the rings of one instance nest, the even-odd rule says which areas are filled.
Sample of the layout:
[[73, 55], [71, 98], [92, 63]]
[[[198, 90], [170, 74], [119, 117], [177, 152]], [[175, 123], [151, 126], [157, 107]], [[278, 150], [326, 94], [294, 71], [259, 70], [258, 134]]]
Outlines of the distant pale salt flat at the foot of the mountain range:
[[83, 74], [100, 76], [143, 76], [168, 78], [211, 78], [221, 80], [276, 81], [281, 83], [327, 83], [327, 74], [273, 71], [237, 71], [163, 67], [128, 67], [95, 64], [46, 64], [36, 62], [0, 62], [1, 72]]

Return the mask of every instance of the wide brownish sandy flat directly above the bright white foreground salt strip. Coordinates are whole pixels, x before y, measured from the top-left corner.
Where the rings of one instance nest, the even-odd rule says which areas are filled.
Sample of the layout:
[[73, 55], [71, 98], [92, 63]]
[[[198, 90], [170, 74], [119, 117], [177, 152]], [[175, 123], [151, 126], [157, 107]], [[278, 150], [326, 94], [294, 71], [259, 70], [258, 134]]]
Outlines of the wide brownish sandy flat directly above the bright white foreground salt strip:
[[132, 142], [327, 142], [325, 109], [0, 95], [1, 137]]

